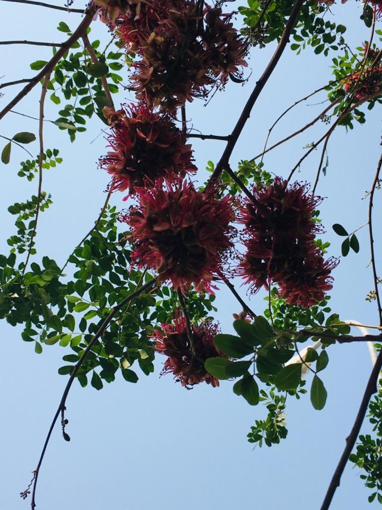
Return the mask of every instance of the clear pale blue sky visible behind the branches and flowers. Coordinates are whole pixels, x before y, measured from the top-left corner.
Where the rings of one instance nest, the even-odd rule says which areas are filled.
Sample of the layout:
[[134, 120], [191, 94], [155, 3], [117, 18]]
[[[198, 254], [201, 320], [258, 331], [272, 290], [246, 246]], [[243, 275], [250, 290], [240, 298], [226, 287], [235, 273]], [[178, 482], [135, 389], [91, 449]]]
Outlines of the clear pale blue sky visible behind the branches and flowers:
[[[244, 0], [229, 6], [243, 4]], [[57, 5], [61, 4], [57, 2]], [[80, 8], [81, 4], [76, 2], [73, 7]], [[1, 8], [2, 40], [60, 41], [64, 34], [57, 32], [58, 22], [64, 20], [75, 28], [80, 18], [78, 14], [67, 15], [22, 4], [2, 2]], [[368, 31], [359, 19], [360, 3], [353, 0], [344, 5], [339, 3], [332, 11], [337, 23], [347, 25], [345, 37], [350, 47], [368, 38]], [[105, 26], [94, 23], [90, 38], [107, 42]], [[187, 106], [187, 117], [194, 126], [205, 134], [230, 133], [273, 50], [274, 46], [269, 46], [252, 51], [249, 62], [252, 74], [244, 87], [228, 85], [224, 94], [215, 95], [207, 109], [200, 101]], [[37, 59], [48, 60], [51, 55], [50, 48], [33, 46], [1, 46], [0, 52], [0, 75], [4, 75], [4, 81], [32, 76], [34, 71], [29, 69], [29, 64]], [[279, 114], [330, 80], [332, 56], [316, 56], [311, 48], [296, 56], [286, 49], [245, 126], [232, 161], [258, 154], [268, 128]], [[5, 89], [1, 105], [8, 103], [17, 90], [17, 87]], [[39, 93], [36, 87], [15, 110], [38, 116]], [[313, 119], [325, 105], [311, 105], [324, 99], [324, 94], [315, 96], [308, 104], [292, 111], [270, 141], [283, 138]], [[122, 94], [121, 101], [124, 100]], [[56, 119], [57, 110], [51, 101], [46, 101], [47, 119]], [[88, 132], [79, 134], [77, 141], [70, 144], [65, 133], [46, 125], [46, 147], [59, 148], [64, 163], [44, 172], [43, 189], [52, 194], [54, 203], [39, 219], [36, 260], [47, 254], [62, 265], [98, 214], [108, 182], [105, 172], [97, 169], [105, 141], [100, 136], [93, 144], [90, 142], [101, 128], [102, 124], [95, 118], [89, 123]], [[0, 134], [10, 138], [19, 131], [37, 133], [37, 129], [36, 121], [12, 113], [0, 123]], [[326, 129], [319, 123], [272, 151], [264, 159], [266, 170], [287, 176], [303, 154], [303, 146], [315, 141]], [[347, 134], [340, 128], [330, 140], [330, 166], [317, 192], [328, 197], [320, 210], [328, 231], [325, 239], [332, 242], [330, 250], [334, 256], [340, 254], [341, 239], [333, 233], [331, 225], [341, 223], [350, 232], [367, 221], [368, 203], [362, 197], [371, 187], [381, 150], [379, 142], [380, 109], [377, 107], [367, 113], [365, 125], [356, 125]], [[37, 154], [38, 142], [28, 148], [31, 147]], [[203, 180], [206, 162], [219, 160], [224, 144], [195, 140], [194, 148]], [[0, 252], [4, 253], [8, 251], [5, 240], [13, 232], [14, 220], [7, 208], [36, 194], [38, 184], [36, 179], [28, 183], [17, 176], [18, 162], [25, 158], [21, 150], [15, 147], [12, 150], [11, 164], [0, 166]], [[314, 179], [319, 156], [320, 151], [315, 151], [306, 160], [297, 174], [298, 180]], [[113, 196], [118, 208], [125, 205], [122, 198], [118, 193]], [[374, 228], [379, 268], [382, 262], [382, 245], [378, 239], [380, 213], [380, 192], [377, 192]], [[342, 319], [376, 324], [375, 303], [365, 301], [373, 288], [371, 269], [367, 268], [370, 251], [365, 229], [360, 231], [359, 239], [360, 253], [350, 253], [334, 272], [331, 305]], [[378, 274], [382, 275], [381, 269]], [[240, 292], [245, 296], [244, 288]], [[251, 307], [257, 313], [264, 309], [263, 297], [262, 293], [251, 297]], [[232, 329], [232, 313], [239, 312], [240, 307], [225, 289], [217, 293], [216, 303], [217, 318], [228, 333]], [[20, 329], [6, 323], [0, 324], [0, 335], [3, 353], [1, 506], [18, 510], [30, 505], [30, 499], [22, 501], [19, 493], [29, 483], [61, 398], [66, 377], [58, 375], [57, 370], [63, 364], [62, 355], [68, 352], [54, 345], [45, 346], [43, 354], [37, 355], [33, 344], [21, 340]], [[329, 356], [328, 368], [322, 373], [329, 394], [323, 411], [313, 410], [308, 395], [300, 401], [289, 399], [287, 439], [272, 448], [255, 450], [246, 435], [255, 419], [266, 415], [266, 410], [262, 405], [251, 407], [234, 395], [231, 381], [223, 381], [220, 389], [200, 385], [186, 391], [175, 384], [171, 375], [159, 379], [164, 359], [158, 356], [157, 369], [150, 377], [138, 369], [137, 385], [127, 383], [120, 376], [100, 392], [75, 384], [67, 401], [67, 431], [71, 442], [64, 442], [57, 426], [40, 471], [38, 510], [319, 508], [371, 370], [366, 345], [333, 346]], [[308, 376], [308, 389], [310, 383]], [[332, 508], [368, 508], [368, 495], [358, 469], [348, 466]]]

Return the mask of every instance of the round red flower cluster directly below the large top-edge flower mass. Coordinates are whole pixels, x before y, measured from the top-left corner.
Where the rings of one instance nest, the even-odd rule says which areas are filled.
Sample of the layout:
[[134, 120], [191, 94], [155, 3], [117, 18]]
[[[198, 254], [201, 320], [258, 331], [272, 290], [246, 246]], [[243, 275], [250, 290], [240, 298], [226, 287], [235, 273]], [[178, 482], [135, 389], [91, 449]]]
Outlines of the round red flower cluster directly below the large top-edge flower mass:
[[158, 180], [180, 182], [196, 171], [192, 149], [168, 114], [158, 115], [145, 104], [127, 110], [104, 110], [112, 124], [108, 138], [112, 151], [100, 159], [100, 166], [113, 175], [111, 188], [121, 191], [152, 187]]

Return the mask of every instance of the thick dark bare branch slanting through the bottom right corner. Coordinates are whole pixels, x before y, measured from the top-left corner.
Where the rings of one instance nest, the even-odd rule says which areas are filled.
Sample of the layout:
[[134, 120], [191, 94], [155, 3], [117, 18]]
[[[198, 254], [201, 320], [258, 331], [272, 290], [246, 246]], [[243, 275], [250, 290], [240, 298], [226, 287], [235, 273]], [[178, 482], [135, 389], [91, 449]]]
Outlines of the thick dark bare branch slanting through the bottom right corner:
[[351, 450], [354, 447], [354, 444], [356, 444], [358, 435], [360, 433], [360, 429], [362, 426], [362, 423], [365, 419], [365, 415], [367, 413], [369, 400], [371, 396], [377, 392], [377, 382], [379, 377], [379, 372], [382, 368], [382, 351], [379, 352], [378, 357], [376, 359], [375, 365], [373, 367], [373, 370], [371, 371], [366, 390], [364, 393], [364, 396], [361, 401], [360, 409], [358, 411], [356, 420], [354, 421], [354, 424], [351, 428], [351, 431], [346, 438], [346, 445], [343, 450], [343, 453], [341, 455], [340, 461], [338, 463], [338, 466], [334, 472], [334, 475], [332, 477], [332, 480], [329, 484], [328, 491], [326, 492], [325, 498], [323, 500], [321, 510], [328, 510], [332, 503], [332, 499], [334, 496], [334, 493], [336, 492], [337, 487], [340, 486], [341, 476], [345, 469], [346, 463], [348, 461], [349, 455], [351, 453]]

